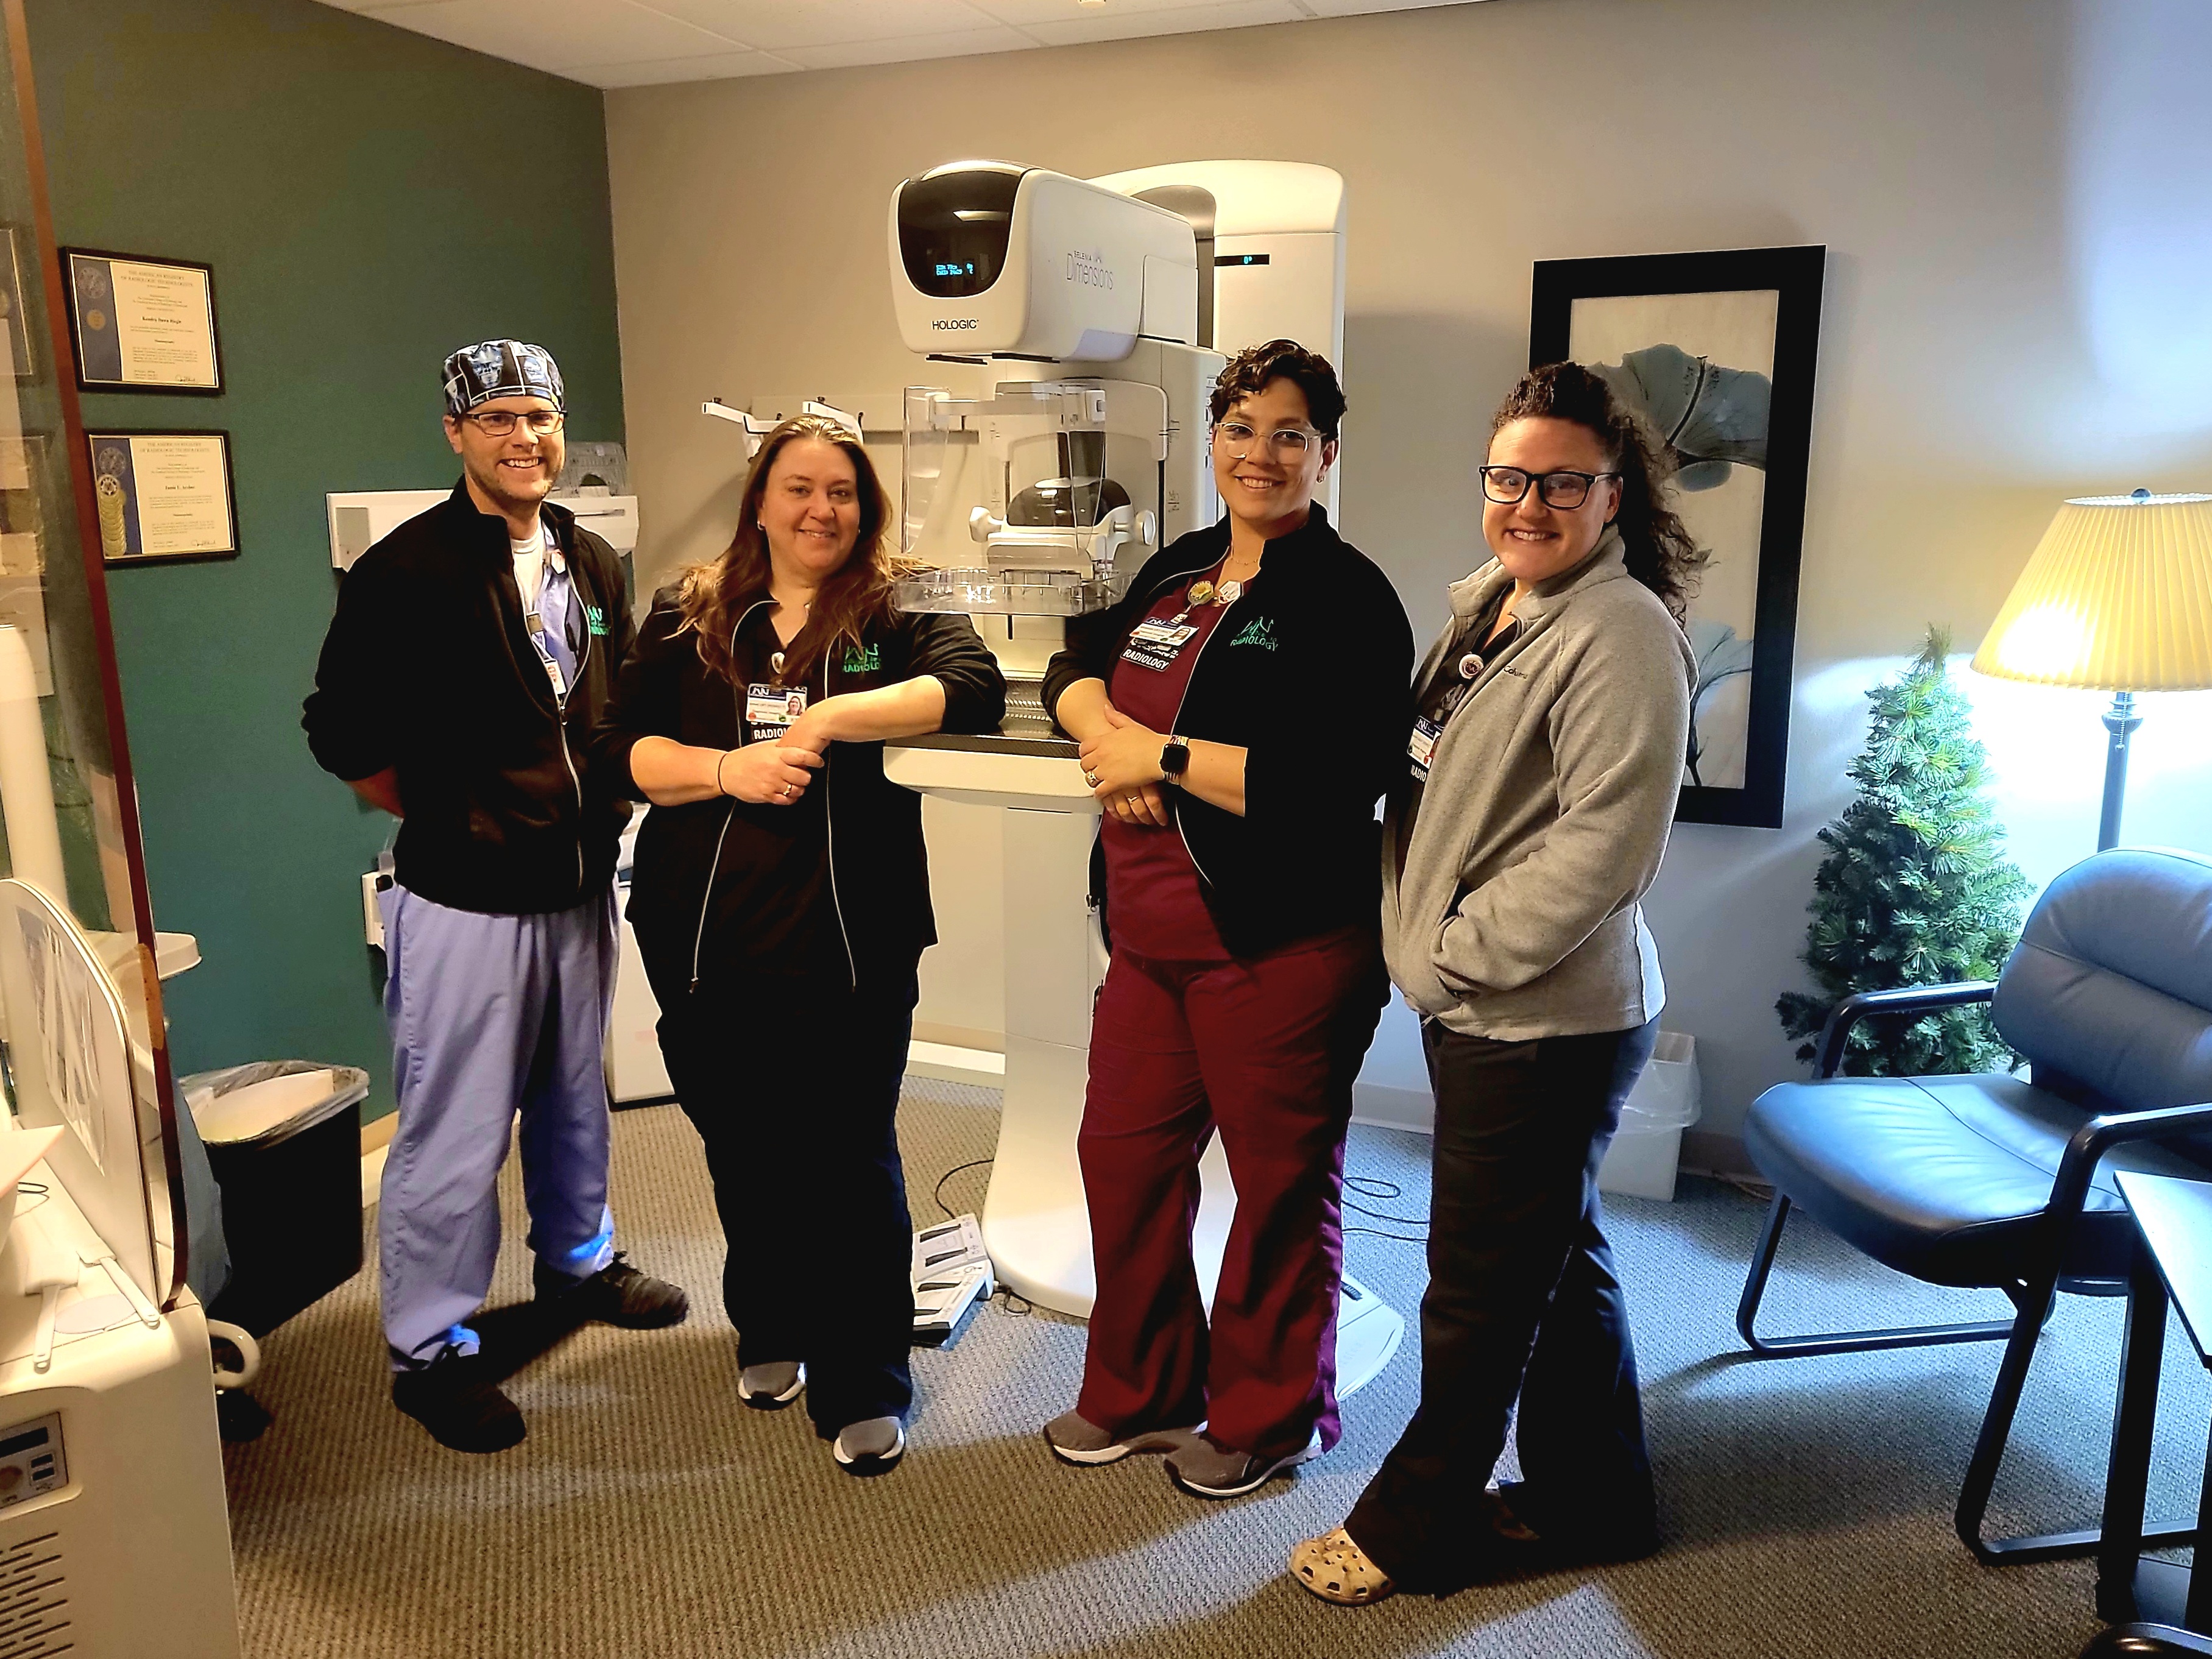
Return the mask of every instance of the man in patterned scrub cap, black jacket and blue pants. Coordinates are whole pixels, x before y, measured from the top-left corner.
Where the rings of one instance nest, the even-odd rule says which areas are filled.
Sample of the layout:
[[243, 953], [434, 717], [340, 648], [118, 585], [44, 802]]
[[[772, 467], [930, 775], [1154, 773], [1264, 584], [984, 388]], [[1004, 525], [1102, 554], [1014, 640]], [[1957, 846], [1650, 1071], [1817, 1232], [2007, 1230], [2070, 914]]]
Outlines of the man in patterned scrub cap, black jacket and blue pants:
[[524, 1436], [469, 1318], [500, 1248], [522, 1117], [538, 1305], [677, 1325], [690, 1305], [615, 1250], [602, 1053], [615, 843], [630, 803], [584, 737], [630, 646], [615, 551], [546, 500], [566, 400], [540, 345], [445, 361], [460, 482], [363, 553], [303, 726], [323, 770], [400, 818], [383, 894], [398, 1133], [380, 1228], [392, 1400], [456, 1451]]

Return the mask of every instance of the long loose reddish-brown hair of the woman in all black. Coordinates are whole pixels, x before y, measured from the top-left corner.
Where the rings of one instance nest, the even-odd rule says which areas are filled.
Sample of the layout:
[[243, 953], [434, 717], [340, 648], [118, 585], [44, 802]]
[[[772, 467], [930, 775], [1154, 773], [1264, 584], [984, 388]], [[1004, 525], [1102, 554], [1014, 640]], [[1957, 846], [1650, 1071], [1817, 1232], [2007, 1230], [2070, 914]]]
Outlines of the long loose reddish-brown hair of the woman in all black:
[[885, 622], [894, 608], [891, 584], [898, 580], [898, 560], [891, 553], [891, 498], [876, 476], [876, 465], [867, 458], [860, 440], [836, 420], [812, 414], [792, 416], [761, 440], [761, 453], [752, 458], [745, 493], [737, 502], [737, 533], [730, 538], [730, 546], [719, 557], [684, 571], [684, 586], [677, 593], [677, 604], [684, 611], [677, 633], [686, 628], [697, 633], [699, 661], [730, 684], [737, 684], [737, 668], [730, 661], [732, 628], [748, 606], [768, 597], [768, 584], [774, 575], [768, 562], [768, 535], [761, 531], [761, 498], [768, 493], [768, 473], [785, 445], [801, 438], [836, 445], [852, 460], [860, 495], [860, 533], [845, 562], [814, 593], [805, 626], [783, 648], [783, 670], [776, 679], [785, 686], [803, 686], [830, 655], [830, 646], [838, 639], [865, 646], [867, 628]]

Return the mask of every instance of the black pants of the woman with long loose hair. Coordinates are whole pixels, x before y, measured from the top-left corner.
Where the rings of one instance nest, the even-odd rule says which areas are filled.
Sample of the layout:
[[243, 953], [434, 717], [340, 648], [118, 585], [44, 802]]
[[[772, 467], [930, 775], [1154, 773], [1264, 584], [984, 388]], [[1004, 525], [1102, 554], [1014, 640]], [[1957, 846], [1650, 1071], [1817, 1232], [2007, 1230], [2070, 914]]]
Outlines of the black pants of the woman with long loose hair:
[[668, 1079], [706, 1146], [737, 1363], [801, 1360], [823, 1440], [914, 1402], [914, 1234], [898, 1082], [916, 982], [701, 980], [664, 1004]]

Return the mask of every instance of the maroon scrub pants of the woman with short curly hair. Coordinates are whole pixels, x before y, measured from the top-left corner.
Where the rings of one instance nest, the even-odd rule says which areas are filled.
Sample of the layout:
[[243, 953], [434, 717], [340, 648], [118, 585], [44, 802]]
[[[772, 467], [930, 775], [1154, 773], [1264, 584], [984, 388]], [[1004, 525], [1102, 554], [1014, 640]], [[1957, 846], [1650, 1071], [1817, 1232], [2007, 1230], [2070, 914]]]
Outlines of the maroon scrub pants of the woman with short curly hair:
[[[1336, 1444], [1352, 1079], [1389, 982], [1374, 929], [1230, 962], [1117, 947], [1077, 1150], [1097, 1303], [1077, 1411], [1115, 1438], [1206, 1422], [1276, 1458]], [[1214, 1130], [1237, 1183], [1212, 1325], [1190, 1228]]]

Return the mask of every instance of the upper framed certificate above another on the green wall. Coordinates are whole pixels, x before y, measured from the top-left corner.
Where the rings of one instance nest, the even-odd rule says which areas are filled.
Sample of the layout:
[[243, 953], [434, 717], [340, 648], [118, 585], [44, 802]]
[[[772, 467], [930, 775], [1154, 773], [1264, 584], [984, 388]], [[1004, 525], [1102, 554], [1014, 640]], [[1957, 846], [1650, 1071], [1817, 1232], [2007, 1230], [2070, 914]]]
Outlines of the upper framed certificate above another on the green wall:
[[80, 389], [223, 389], [208, 265], [62, 248], [62, 288]]

